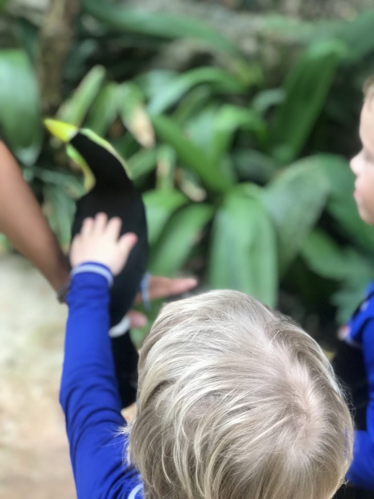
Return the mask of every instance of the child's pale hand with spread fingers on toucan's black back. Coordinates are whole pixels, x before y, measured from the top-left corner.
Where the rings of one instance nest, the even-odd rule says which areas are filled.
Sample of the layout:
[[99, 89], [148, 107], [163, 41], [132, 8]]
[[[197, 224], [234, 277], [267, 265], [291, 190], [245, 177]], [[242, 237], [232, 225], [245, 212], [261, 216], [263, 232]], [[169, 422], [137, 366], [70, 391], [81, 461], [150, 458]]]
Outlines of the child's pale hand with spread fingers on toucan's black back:
[[98, 213], [94, 219], [85, 219], [71, 245], [71, 266], [95, 261], [109, 267], [113, 275], [119, 274], [137, 242], [132, 233], [118, 239], [121, 226], [121, 219], [115, 217], [108, 221], [105, 213]]

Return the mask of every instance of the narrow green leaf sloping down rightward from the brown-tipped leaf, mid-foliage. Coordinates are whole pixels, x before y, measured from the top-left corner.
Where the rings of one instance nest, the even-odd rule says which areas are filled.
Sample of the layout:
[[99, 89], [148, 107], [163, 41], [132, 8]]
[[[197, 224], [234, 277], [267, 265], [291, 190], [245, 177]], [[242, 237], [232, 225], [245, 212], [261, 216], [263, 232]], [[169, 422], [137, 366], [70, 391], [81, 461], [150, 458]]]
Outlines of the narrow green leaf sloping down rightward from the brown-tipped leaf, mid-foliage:
[[228, 180], [205, 151], [188, 141], [173, 120], [166, 116], [153, 116], [152, 122], [158, 137], [174, 147], [180, 161], [199, 176], [208, 190], [223, 192], [229, 187]]

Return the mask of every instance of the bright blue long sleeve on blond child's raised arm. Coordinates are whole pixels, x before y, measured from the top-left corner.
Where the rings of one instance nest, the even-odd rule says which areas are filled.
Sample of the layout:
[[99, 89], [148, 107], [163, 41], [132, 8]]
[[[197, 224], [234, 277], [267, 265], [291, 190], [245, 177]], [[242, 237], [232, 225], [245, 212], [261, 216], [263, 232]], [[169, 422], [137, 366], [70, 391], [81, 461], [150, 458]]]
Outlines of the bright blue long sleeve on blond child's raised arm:
[[[84, 270], [84, 268], [81, 268]], [[126, 464], [126, 421], [115, 377], [106, 269], [72, 277], [60, 404], [78, 499], [140, 499], [139, 473]]]

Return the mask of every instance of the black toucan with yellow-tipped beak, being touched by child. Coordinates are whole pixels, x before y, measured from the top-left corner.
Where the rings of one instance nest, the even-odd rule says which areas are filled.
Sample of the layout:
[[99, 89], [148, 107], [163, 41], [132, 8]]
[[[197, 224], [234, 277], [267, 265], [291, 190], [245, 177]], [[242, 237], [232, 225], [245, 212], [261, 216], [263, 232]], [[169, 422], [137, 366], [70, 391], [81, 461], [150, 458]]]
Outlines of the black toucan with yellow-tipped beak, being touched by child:
[[146, 275], [148, 236], [145, 208], [135, 189], [125, 161], [112, 145], [89, 129], [45, 119], [49, 132], [67, 145], [68, 155], [84, 176], [86, 194], [76, 203], [71, 236], [80, 232], [82, 222], [104, 212], [122, 220], [121, 234], [133, 232], [138, 242], [111, 289], [110, 326], [112, 350], [123, 407], [135, 401], [138, 354], [124, 317], [129, 311]]

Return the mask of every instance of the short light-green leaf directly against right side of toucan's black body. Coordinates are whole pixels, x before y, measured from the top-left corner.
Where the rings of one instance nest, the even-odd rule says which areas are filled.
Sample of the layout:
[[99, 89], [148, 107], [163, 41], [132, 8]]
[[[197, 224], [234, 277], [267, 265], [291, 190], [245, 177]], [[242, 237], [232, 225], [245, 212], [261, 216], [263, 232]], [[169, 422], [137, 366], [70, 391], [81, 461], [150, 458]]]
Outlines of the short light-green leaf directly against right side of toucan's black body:
[[143, 195], [146, 207], [148, 241], [153, 246], [172, 214], [188, 202], [180, 191], [147, 191]]

